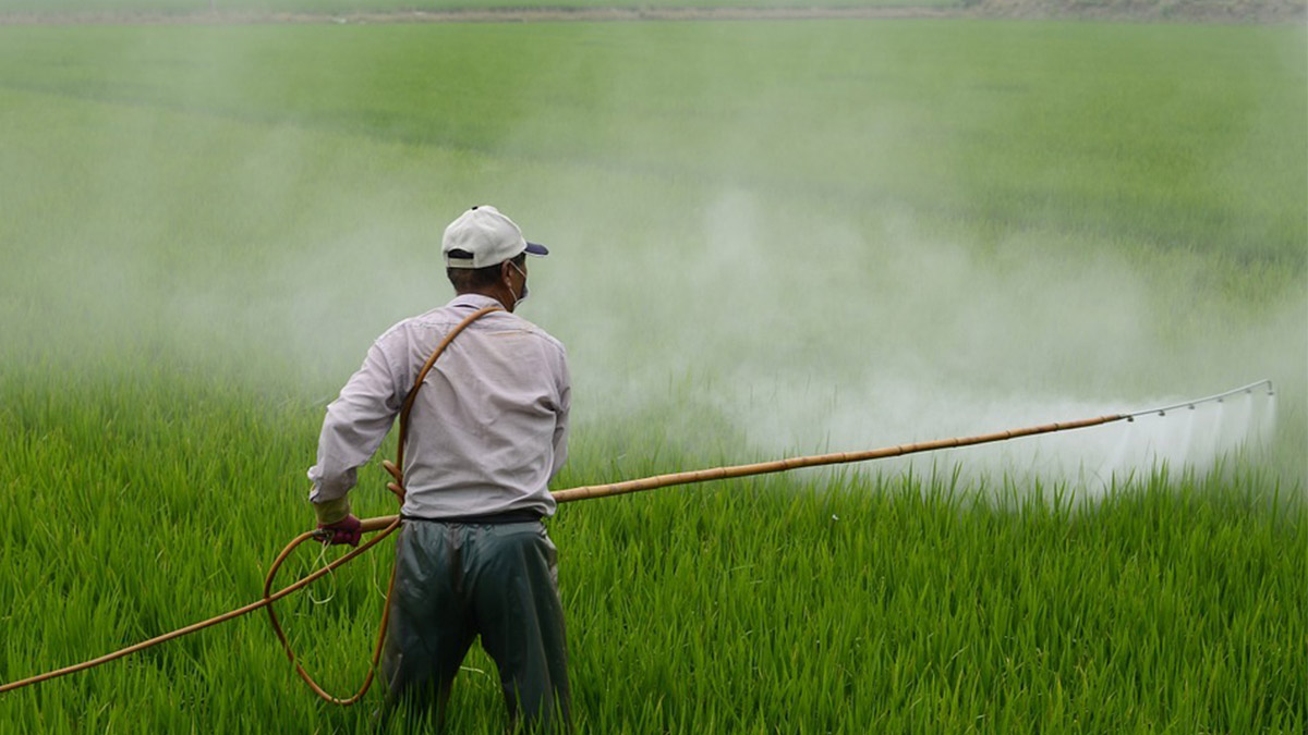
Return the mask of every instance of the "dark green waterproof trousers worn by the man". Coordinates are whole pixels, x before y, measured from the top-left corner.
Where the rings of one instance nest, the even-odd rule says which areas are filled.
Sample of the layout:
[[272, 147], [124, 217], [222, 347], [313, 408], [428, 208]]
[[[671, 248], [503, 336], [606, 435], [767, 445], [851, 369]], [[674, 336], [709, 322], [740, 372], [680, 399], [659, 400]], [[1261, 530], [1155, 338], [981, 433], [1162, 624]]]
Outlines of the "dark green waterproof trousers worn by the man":
[[385, 711], [402, 706], [443, 723], [454, 676], [481, 636], [514, 725], [566, 731], [568, 650], [557, 553], [545, 527], [405, 521], [395, 551]]

